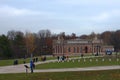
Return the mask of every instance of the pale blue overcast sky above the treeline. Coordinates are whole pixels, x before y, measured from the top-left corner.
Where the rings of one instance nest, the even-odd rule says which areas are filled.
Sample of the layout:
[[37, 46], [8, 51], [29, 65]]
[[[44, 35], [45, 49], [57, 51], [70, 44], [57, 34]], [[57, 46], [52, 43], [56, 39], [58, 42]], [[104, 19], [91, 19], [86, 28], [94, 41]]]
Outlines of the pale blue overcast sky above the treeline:
[[0, 34], [42, 29], [77, 35], [120, 29], [120, 0], [0, 0]]

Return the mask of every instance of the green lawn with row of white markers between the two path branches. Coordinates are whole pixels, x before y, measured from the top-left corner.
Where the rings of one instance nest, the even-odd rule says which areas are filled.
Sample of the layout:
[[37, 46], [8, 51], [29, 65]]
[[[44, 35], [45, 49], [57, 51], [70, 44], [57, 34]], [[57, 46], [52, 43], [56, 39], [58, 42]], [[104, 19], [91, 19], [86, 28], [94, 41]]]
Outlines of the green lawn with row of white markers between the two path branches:
[[[104, 59], [104, 60], [103, 60]], [[91, 67], [91, 66], [109, 66], [120, 65], [120, 59], [118, 58], [82, 58], [73, 59], [65, 62], [51, 62], [45, 64], [36, 65], [36, 69], [55, 69], [55, 68], [78, 68], [78, 67]]]

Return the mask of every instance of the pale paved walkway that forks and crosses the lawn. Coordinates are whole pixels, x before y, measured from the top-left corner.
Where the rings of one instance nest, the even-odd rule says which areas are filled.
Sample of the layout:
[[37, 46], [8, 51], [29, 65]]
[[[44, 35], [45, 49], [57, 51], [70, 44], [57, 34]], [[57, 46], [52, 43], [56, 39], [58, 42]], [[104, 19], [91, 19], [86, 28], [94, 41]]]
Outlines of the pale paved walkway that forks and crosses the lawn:
[[[55, 62], [57, 60], [49, 60], [45, 62], [37, 62], [37, 64]], [[29, 63], [26, 65], [29, 66]], [[93, 71], [93, 70], [110, 70], [110, 69], [120, 69], [120, 66], [97, 66], [97, 67], [85, 67], [85, 68], [64, 68], [64, 69], [40, 69], [34, 70], [34, 72], [66, 72], [66, 71]], [[28, 70], [30, 72], [30, 70]], [[12, 65], [12, 66], [4, 66], [0, 67], [0, 74], [5, 73], [25, 73], [24, 64], [20, 65]]]

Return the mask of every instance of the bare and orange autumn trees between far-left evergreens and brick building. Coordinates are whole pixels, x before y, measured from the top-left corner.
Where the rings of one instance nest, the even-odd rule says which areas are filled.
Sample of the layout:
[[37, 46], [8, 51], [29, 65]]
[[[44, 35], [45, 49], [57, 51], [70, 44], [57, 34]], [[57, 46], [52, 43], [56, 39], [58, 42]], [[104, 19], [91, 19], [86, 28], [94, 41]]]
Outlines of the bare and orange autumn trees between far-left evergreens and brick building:
[[52, 36], [49, 30], [40, 30], [38, 33], [8, 31], [12, 57], [29, 57], [52, 54]]

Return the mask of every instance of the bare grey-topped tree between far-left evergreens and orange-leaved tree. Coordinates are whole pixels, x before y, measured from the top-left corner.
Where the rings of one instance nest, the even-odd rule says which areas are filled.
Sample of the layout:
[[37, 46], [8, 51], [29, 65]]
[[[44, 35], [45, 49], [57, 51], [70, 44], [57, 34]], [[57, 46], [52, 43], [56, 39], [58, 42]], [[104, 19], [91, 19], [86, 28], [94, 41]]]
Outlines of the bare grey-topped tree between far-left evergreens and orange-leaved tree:
[[7, 37], [10, 42], [10, 47], [14, 58], [23, 57], [25, 54], [24, 33], [21, 31], [8, 31]]

